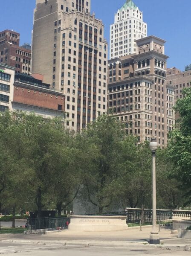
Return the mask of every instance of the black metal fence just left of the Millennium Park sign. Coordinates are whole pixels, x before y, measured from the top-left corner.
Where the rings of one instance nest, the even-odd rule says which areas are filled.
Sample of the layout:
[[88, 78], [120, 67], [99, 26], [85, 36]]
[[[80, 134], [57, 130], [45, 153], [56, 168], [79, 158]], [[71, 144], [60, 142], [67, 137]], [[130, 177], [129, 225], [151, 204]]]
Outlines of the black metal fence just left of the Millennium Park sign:
[[30, 230], [64, 230], [68, 229], [69, 223], [70, 218], [28, 218], [27, 227]]

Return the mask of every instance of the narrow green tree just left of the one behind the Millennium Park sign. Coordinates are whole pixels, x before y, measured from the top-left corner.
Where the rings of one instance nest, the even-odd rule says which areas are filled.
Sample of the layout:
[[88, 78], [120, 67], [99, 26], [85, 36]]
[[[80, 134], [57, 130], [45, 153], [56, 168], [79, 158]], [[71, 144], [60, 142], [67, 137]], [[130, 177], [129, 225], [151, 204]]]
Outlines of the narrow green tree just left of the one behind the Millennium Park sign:
[[54, 167], [54, 204], [58, 211], [68, 209], [79, 189], [79, 168], [78, 168], [78, 148], [76, 148], [75, 135], [64, 130], [60, 136], [52, 157]]

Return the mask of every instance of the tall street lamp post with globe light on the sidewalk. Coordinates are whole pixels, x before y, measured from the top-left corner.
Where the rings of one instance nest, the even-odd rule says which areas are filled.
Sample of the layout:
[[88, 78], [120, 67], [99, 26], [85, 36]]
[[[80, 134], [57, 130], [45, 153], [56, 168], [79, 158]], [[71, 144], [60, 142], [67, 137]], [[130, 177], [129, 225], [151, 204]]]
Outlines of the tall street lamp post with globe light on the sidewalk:
[[153, 228], [150, 232], [150, 244], [159, 244], [159, 233], [156, 227], [156, 166], [155, 166], [155, 158], [156, 158], [156, 149], [157, 149], [156, 139], [151, 139], [149, 147], [152, 152], [153, 159]]

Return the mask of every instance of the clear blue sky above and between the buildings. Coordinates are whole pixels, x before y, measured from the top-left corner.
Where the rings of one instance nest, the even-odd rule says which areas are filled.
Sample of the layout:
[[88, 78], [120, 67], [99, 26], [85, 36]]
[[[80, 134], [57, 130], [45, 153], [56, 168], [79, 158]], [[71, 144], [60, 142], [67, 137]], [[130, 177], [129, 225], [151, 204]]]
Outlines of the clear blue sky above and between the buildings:
[[[20, 43], [31, 43], [35, 0], [1, 0], [0, 31], [13, 29], [20, 33]], [[114, 13], [125, 0], [91, 0], [91, 12], [103, 20], [105, 38], [109, 42], [110, 24]], [[148, 23], [148, 35], [156, 35], [167, 41], [165, 54], [168, 67], [184, 70], [191, 64], [191, 0], [134, 0], [143, 11]]]

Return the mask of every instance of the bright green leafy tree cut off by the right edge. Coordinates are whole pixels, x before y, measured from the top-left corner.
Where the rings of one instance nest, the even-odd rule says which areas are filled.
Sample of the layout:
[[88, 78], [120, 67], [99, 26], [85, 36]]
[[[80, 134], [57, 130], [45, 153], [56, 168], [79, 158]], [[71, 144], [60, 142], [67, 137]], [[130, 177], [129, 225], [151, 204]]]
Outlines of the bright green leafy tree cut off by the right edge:
[[186, 204], [191, 203], [191, 88], [183, 90], [185, 97], [175, 105], [179, 113], [177, 128], [169, 136], [168, 156], [174, 163], [172, 175], [182, 183], [187, 197]]

